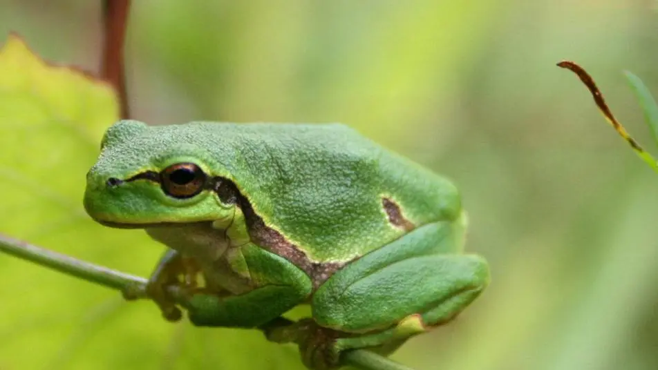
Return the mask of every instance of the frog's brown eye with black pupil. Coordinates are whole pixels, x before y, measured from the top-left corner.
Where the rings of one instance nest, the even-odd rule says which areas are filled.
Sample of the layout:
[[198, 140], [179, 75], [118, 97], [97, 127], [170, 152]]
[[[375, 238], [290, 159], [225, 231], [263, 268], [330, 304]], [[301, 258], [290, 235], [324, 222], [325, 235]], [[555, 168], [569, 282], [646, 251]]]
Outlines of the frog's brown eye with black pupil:
[[206, 175], [194, 163], [178, 163], [160, 172], [160, 184], [167, 195], [175, 198], [194, 197], [203, 191]]

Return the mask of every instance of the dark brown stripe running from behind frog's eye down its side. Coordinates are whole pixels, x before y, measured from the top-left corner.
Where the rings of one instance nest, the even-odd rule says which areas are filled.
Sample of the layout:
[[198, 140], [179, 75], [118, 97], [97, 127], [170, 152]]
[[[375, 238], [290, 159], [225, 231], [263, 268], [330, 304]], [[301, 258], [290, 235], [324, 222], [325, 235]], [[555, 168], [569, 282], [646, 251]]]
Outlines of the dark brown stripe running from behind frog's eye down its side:
[[213, 191], [223, 203], [236, 204], [241, 208], [252, 242], [299, 267], [311, 278], [315, 288], [344, 266], [344, 262], [322, 263], [311, 260], [298, 246], [286, 240], [279, 231], [265, 225], [263, 218], [256, 214], [249, 200], [240, 193], [232, 181], [223, 177], [214, 177], [212, 182], [214, 182]]

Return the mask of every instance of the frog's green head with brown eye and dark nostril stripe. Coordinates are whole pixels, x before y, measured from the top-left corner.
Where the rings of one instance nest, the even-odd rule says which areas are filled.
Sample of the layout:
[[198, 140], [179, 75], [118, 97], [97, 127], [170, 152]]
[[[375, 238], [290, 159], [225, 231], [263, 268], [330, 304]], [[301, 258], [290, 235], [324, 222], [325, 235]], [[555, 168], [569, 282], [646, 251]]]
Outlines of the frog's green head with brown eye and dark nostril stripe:
[[144, 228], [232, 214], [214, 189], [223, 181], [195, 131], [119, 121], [105, 133], [87, 174], [84, 208], [102, 224]]

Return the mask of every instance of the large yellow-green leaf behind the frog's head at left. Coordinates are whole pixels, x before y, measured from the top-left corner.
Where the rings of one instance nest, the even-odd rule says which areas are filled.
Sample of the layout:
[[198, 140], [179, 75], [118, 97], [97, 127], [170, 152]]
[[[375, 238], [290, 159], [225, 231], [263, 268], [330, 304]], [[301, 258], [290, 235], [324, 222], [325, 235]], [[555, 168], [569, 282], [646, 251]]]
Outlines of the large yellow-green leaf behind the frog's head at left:
[[[41, 60], [16, 35], [0, 48], [0, 233], [137, 275], [162, 251], [142, 231], [95, 224], [85, 175], [118, 119], [111, 86]], [[292, 347], [261, 333], [164, 322], [151, 302], [0, 254], [0, 369], [261, 369]], [[253, 356], [259, 353], [259, 356]]]

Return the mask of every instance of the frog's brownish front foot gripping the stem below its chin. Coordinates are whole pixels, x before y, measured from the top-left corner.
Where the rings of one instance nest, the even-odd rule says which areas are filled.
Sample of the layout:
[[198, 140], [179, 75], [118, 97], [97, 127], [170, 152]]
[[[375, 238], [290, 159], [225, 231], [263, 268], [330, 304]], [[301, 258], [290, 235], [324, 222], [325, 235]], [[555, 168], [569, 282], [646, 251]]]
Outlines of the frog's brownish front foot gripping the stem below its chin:
[[[158, 305], [167, 321], [176, 322], [182, 318], [182, 312], [176, 306], [176, 300], [169, 293], [169, 289], [175, 286], [179, 289], [180, 295], [193, 295], [198, 291], [199, 271], [194, 260], [183, 257], [173, 250], [164, 253], [158, 262], [147, 283], [146, 293], [148, 298]], [[130, 297], [126, 298], [130, 299]]]

